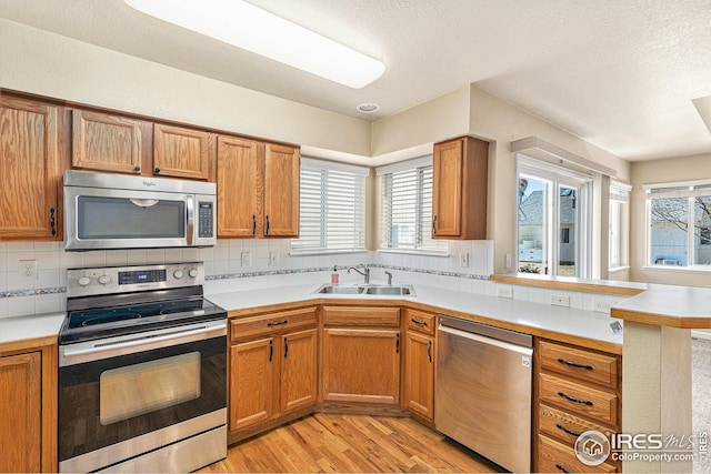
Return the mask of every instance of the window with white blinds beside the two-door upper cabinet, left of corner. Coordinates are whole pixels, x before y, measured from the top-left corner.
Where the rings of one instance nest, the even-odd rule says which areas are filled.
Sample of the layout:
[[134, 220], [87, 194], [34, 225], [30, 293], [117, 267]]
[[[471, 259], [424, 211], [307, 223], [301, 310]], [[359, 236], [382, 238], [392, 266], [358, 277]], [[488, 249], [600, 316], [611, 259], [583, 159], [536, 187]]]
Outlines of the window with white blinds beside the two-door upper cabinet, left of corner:
[[370, 170], [302, 158], [299, 239], [291, 253], [365, 248], [365, 177]]

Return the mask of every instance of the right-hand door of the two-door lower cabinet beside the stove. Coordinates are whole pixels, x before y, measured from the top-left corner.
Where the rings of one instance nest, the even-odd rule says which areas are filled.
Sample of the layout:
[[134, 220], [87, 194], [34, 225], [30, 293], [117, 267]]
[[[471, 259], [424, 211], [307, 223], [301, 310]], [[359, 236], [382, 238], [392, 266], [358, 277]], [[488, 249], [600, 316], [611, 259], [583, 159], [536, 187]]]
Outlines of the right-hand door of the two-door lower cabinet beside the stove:
[[308, 406], [317, 397], [317, 330], [282, 336], [281, 412]]

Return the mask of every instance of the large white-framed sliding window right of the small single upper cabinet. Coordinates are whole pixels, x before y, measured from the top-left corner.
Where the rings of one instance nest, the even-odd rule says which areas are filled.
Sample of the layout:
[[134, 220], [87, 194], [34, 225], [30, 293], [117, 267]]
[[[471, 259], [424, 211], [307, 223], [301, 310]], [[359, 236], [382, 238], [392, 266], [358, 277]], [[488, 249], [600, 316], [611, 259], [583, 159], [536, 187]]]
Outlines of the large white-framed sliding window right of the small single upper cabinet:
[[518, 157], [518, 269], [589, 278], [592, 177]]

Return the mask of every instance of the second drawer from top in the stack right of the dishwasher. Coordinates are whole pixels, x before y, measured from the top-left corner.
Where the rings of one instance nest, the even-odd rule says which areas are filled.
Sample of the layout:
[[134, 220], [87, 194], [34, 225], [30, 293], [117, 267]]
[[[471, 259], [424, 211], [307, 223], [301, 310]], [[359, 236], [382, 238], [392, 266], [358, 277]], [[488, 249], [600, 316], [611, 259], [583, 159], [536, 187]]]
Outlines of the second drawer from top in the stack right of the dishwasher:
[[618, 397], [613, 393], [541, 373], [539, 397], [541, 402], [561, 407], [565, 412], [610, 425], [618, 423]]

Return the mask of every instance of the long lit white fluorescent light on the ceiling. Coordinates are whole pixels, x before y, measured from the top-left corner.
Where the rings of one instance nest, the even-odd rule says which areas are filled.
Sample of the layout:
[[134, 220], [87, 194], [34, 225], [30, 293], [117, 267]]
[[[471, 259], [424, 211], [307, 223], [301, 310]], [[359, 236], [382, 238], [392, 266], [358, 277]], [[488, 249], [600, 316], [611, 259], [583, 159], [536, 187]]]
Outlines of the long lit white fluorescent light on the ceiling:
[[385, 67], [242, 0], [123, 0], [143, 13], [302, 71], [360, 89]]

